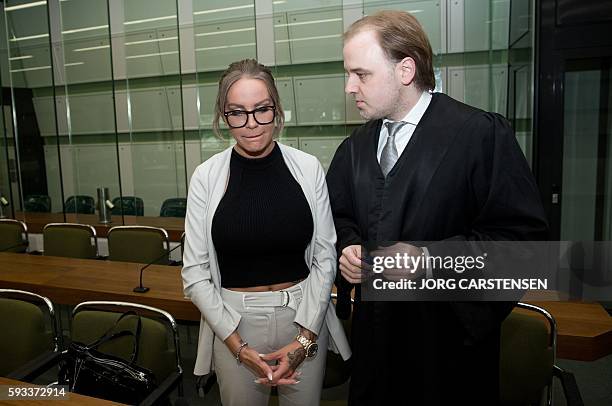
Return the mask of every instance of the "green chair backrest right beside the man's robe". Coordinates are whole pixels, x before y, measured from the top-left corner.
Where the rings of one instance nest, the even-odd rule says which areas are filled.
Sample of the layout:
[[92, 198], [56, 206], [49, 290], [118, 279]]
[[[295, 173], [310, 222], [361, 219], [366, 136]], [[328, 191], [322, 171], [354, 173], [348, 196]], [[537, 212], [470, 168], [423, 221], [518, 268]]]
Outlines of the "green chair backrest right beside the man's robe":
[[[546, 310], [518, 303], [504, 320], [500, 343], [500, 397], [502, 405], [540, 405], [552, 401], [557, 328]], [[530, 314], [526, 314], [530, 313]]]

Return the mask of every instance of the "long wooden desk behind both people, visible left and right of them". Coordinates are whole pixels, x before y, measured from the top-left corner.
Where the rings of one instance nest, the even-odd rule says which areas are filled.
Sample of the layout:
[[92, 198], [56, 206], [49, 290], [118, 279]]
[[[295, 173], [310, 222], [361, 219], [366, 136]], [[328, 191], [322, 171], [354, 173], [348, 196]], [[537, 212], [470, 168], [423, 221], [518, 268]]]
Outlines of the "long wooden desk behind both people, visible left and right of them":
[[[120, 300], [166, 310], [179, 320], [200, 319], [183, 297], [179, 267], [153, 265], [144, 271], [151, 290], [134, 293], [142, 265], [26, 254], [0, 253], [0, 288], [23, 289], [55, 303]], [[612, 317], [597, 303], [529, 301], [557, 320], [560, 358], [592, 361], [612, 353]]]

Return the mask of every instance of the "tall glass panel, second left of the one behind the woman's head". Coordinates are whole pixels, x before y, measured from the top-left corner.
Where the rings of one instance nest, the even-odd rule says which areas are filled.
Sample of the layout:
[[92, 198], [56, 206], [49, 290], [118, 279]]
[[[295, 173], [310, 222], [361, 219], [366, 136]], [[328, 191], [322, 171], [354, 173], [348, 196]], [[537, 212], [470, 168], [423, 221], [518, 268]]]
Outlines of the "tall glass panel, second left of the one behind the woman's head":
[[56, 102], [60, 122], [65, 121], [59, 133], [65, 211], [76, 222], [96, 224], [98, 189], [108, 189], [107, 200], [120, 195], [107, 3], [60, 2], [58, 17]]

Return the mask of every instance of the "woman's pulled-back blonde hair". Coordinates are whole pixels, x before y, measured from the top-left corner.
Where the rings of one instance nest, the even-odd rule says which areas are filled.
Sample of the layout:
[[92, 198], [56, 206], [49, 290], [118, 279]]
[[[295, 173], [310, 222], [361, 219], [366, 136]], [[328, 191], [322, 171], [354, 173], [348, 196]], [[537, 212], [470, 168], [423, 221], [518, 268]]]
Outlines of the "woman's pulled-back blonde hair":
[[219, 91], [217, 92], [217, 101], [215, 103], [215, 116], [213, 119], [213, 131], [221, 137], [221, 129], [219, 127], [219, 120], [225, 121], [225, 104], [227, 103], [227, 93], [230, 87], [238, 80], [242, 78], [259, 79], [266, 85], [268, 94], [272, 99], [272, 103], [275, 106], [276, 115], [274, 117], [274, 131], [273, 135], [278, 135], [285, 125], [285, 112], [281, 106], [280, 97], [276, 84], [274, 83], [274, 77], [272, 72], [266, 66], [260, 64], [255, 59], [243, 59], [241, 61], [233, 62], [221, 75], [219, 79]]

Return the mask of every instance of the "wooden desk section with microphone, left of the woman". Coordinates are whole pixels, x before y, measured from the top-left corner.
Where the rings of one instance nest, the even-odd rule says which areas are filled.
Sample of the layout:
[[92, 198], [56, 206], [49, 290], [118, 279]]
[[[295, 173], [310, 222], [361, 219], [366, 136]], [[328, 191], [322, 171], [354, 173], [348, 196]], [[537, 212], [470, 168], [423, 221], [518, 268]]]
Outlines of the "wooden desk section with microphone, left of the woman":
[[0, 288], [21, 289], [54, 303], [87, 300], [141, 303], [178, 320], [200, 320], [200, 312], [183, 296], [181, 268], [152, 265], [143, 273], [147, 293], [135, 293], [142, 264], [27, 254], [0, 253]]

